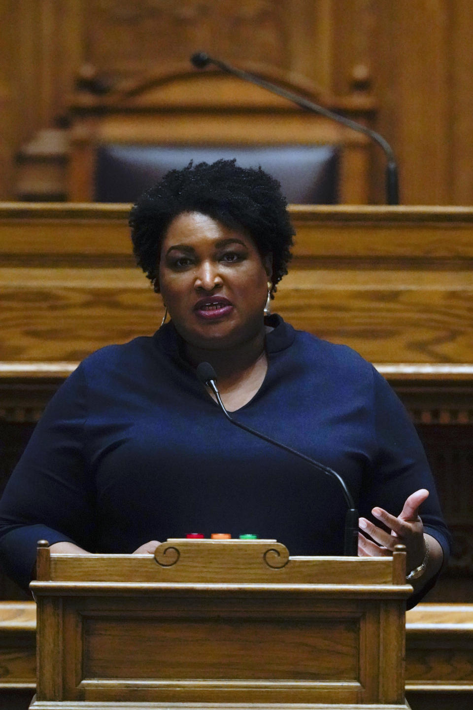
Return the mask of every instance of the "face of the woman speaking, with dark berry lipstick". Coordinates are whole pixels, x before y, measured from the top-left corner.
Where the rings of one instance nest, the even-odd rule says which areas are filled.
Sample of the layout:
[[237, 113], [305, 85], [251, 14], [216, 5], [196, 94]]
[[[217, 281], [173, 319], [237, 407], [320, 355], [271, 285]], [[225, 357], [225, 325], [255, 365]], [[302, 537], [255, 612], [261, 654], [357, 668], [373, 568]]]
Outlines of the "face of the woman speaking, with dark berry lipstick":
[[264, 331], [271, 258], [243, 229], [200, 212], [173, 219], [161, 245], [160, 290], [177, 332], [192, 346], [220, 349]]

